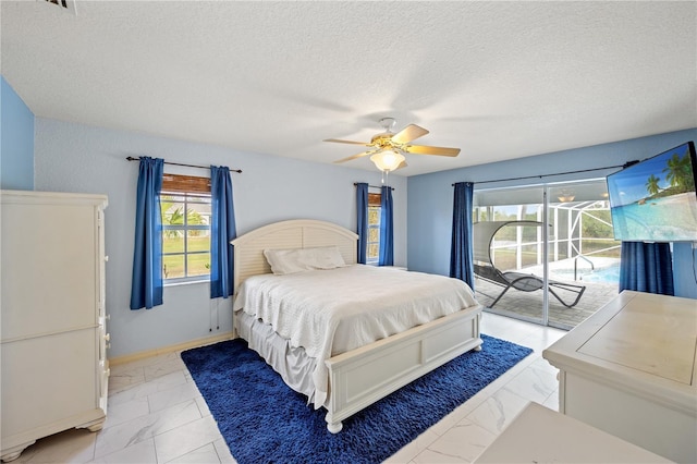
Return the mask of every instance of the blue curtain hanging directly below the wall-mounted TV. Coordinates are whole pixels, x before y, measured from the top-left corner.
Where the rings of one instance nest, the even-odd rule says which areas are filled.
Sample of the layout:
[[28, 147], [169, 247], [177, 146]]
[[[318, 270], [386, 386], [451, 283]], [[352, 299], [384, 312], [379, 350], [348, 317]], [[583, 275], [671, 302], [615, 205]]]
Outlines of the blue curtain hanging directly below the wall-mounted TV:
[[622, 242], [620, 292], [623, 290], [674, 295], [670, 244]]

